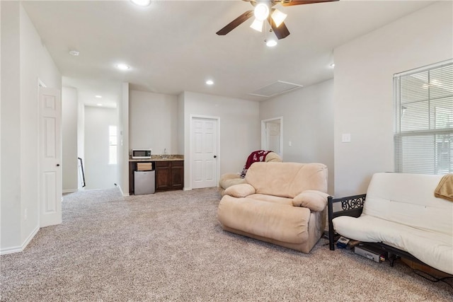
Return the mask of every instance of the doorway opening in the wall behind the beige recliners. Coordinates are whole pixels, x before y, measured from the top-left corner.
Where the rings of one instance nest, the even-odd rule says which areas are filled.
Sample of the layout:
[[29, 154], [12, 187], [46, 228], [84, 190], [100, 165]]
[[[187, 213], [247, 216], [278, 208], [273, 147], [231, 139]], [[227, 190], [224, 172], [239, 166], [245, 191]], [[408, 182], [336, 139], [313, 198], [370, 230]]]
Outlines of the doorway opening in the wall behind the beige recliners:
[[261, 149], [270, 150], [283, 158], [283, 117], [261, 120]]

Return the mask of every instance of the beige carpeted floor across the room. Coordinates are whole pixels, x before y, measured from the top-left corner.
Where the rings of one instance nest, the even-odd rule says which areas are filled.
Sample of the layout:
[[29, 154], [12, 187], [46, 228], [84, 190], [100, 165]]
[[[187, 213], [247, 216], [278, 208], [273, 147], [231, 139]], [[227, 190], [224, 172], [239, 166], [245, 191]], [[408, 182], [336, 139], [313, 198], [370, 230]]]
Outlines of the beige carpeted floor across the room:
[[[453, 301], [399, 262], [222, 231], [217, 188], [64, 196], [63, 223], [1, 256], [1, 301]], [[449, 280], [452, 284], [452, 280]]]

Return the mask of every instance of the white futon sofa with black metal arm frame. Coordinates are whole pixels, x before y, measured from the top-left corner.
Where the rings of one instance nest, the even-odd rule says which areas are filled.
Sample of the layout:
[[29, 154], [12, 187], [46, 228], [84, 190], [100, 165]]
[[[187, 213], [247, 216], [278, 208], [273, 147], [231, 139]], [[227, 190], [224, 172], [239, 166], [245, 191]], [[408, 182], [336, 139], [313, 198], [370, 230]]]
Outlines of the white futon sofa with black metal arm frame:
[[[413, 257], [453, 274], [453, 202], [434, 196], [441, 179], [442, 175], [376, 173], [367, 194], [329, 197], [331, 250], [338, 233], [379, 243], [393, 255]], [[342, 211], [335, 211], [339, 202]]]

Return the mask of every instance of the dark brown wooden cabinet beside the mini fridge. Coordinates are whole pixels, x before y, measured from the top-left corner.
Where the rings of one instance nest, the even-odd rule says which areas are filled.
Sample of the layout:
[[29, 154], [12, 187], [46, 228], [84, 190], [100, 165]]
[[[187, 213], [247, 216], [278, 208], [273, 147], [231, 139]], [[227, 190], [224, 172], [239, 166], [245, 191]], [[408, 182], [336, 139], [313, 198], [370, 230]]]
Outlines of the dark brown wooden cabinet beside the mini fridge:
[[156, 192], [184, 187], [184, 161], [156, 161]]

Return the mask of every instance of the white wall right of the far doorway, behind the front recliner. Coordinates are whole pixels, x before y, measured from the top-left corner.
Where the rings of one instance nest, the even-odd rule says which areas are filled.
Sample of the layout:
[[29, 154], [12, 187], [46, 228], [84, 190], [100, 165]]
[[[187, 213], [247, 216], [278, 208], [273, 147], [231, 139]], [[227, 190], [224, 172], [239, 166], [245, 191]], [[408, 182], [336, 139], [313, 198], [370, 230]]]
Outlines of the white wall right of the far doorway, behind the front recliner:
[[260, 120], [273, 117], [283, 117], [283, 161], [324, 163], [333, 194], [333, 80], [261, 102]]

